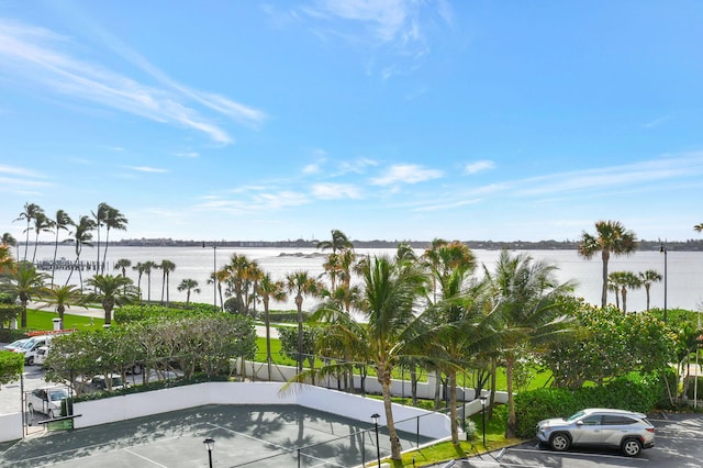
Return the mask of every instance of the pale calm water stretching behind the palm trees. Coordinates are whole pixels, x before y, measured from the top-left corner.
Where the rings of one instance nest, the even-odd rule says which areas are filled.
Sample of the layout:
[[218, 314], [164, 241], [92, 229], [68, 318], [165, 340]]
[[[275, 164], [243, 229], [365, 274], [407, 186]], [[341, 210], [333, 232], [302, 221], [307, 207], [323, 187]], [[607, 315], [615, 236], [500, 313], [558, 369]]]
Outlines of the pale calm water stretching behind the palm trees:
[[[27, 257], [32, 258], [34, 246], [30, 245]], [[100, 255], [102, 257], [102, 248]], [[327, 250], [328, 252], [328, 250]], [[395, 249], [357, 249], [358, 255], [394, 255]], [[214, 299], [214, 287], [208, 285], [208, 278], [213, 269], [222, 268], [228, 264], [233, 254], [245, 255], [249, 260], [256, 260], [259, 267], [271, 275], [274, 279], [283, 279], [287, 274], [295, 270], [306, 270], [312, 276], [323, 274], [322, 264], [324, 258], [322, 252], [315, 248], [267, 248], [267, 247], [237, 247], [226, 248], [212, 246], [207, 247], [115, 247], [108, 248], [105, 274], [119, 274], [114, 270], [114, 263], [121, 258], [127, 258], [132, 265], [140, 261], [152, 260], [160, 264], [161, 260], [170, 260], [176, 264], [176, 269], [170, 274], [169, 289], [171, 301], [185, 301], [186, 292], [177, 290], [178, 285], [185, 278], [194, 279], [199, 283], [200, 293], [191, 293], [191, 301], [211, 303]], [[419, 252], [422, 253], [422, 252]], [[489, 269], [495, 264], [500, 250], [475, 249], [479, 265], [486, 265]], [[573, 280], [578, 283], [576, 296], [584, 298], [588, 302], [600, 304], [601, 298], [601, 275], [602, 263], [600, 254], [591, 260], [579, 257], [576, 250], [515, 250], [525, 253], [535, 259], [544, 259], [555, 264], [559, 270], [557, 277], [561, 281]], [[23, 258], [24, 247], [20, 247], [15, 258]], [[18, 255], [19, 254], [19, 255]], [[85, 247], [81, 253], [81, 260], [96, 261], [98, 252], [94, 247]], [[40, 245], [36, 250], [36, 260], [52, 259], [54, 247], [51, 245]], [[72, 246], [59, 246], [57, 258], [75, 259]], [[689, 310], [703, 311], [703, 253], [701, 252], [669, 252], [666, 255], [667, 267], [667, 307], [669, 309], [683, 308]], [[665, 274], [665, 255], [659, 250], [637, 252], [631, 256], [612, 257], [609, 263], [609, 271], [628, 270], [635, 274], [654, 269], [662, 276]], [[477, 269], [480, 275], [482, 268]], [[51, 271], [49, 271], [51, 272]], [[92, 276], [94, 271], [83, 271], [83, 279]], [[137, 272], [129, 270], [127, 276], [135, 283]], [[55, 282], [66, 283], [68, 271], [57, 270]], [[79, 285], [78, 272], [74, 271], [70, 283]], [[159, 300], [161, 298], [163, 272], [152, 271], [150, 298]], [[142, 277], [142, 290], [144, 298], [149, 296], [147, 291], [147, 278]], [[663, 281], [656, 282], [650, 289], [650, 307], [663, 308], [665, 285]], [[610, 293], [609, 301], [615, 302], [613, 293]], [[303, 309], [309, 309], [315, 303], [313, 298], [305, 298]], [[257, 309], [260, 309], [257, 305]], [[271, 303], [271, 309], [294, 309], [292, 298], [282, 303]], [[646, 294], [644, 288], [628, 291], [627, 310], [643, 311], [646, 309]]]

